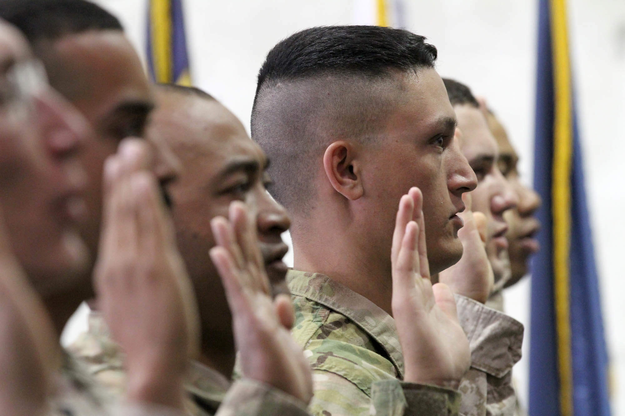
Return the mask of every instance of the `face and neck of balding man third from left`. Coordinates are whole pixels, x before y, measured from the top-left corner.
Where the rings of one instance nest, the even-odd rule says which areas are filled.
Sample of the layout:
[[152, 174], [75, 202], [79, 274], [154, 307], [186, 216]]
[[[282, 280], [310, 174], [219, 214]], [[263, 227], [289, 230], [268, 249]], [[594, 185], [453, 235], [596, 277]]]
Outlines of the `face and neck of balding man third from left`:
[[214, 246], [210, 220], [227, 217], [232, 201], [243, 201], [256, 219], [267, 275], [275, 291], [288, 293], [281, 259], [287, 246], [281, 234], [290, 225], [284, 209], [266, 191], [267, 159], [236, 117], [219, 102], [159, 90], [158, 107], [148, 127], [183, 164], [168, 188], [178, 247], [194, 282], [202, 332], [231, 334], [224, 289], [208, 255]]

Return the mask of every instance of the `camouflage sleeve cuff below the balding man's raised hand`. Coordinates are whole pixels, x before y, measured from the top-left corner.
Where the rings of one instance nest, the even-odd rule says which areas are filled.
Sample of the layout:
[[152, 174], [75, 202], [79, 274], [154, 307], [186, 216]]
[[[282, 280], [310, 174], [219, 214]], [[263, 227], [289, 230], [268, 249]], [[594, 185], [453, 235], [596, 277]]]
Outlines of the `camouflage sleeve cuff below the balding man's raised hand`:
[[251, 379], [234, 382], [216, 416], [309, 416], [306, 404], [281, 390]]

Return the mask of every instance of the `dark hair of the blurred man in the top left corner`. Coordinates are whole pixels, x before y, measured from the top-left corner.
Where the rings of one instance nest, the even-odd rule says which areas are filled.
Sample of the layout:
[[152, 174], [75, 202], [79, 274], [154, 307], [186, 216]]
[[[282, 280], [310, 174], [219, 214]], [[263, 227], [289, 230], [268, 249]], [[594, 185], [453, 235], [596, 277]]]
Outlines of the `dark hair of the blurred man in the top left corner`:
[[0, 17], [31, 44], [94, 29], [124, 30], [117, 17], [86, 0], [2, 0]]

